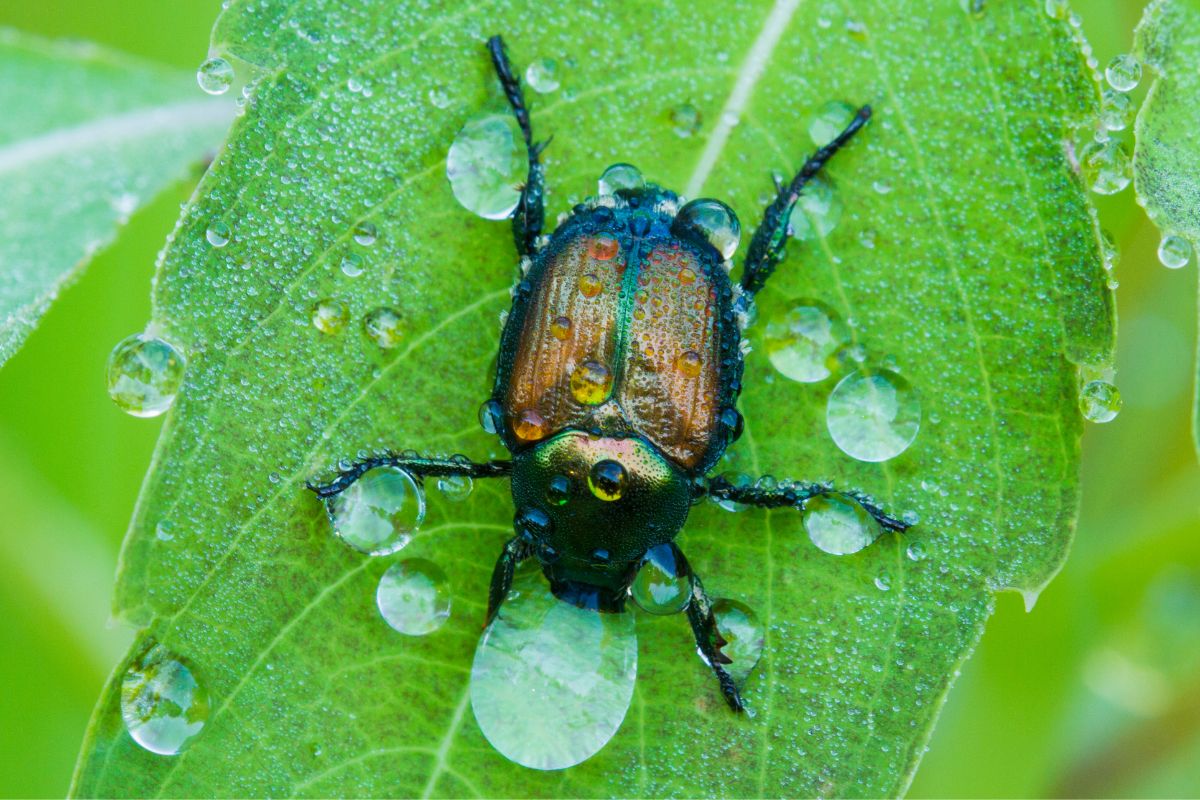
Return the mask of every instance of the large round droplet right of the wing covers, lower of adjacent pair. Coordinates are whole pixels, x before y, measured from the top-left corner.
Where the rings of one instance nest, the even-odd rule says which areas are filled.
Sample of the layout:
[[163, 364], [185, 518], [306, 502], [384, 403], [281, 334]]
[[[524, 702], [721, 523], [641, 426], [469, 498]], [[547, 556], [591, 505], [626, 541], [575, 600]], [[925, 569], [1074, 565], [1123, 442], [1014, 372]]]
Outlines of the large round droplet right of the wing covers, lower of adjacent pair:
[[920, 429], [920, 399], [899, 374], [859, 369], [829, 395], [826, 425], [834, 444], [859, 461], [895, 458]]

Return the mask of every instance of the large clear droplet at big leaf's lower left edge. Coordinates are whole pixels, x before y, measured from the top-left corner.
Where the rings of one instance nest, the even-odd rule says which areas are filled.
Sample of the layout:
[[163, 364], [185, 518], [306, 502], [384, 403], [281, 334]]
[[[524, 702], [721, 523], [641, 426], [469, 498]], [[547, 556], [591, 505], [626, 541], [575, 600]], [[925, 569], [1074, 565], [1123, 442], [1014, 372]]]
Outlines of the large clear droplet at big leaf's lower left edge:
[[121, 679], [121, 718], [133, 741], [151, 753], [184, 750], [209, 717], [209, 693], [191, 664], [161, 644], [151, 644]]

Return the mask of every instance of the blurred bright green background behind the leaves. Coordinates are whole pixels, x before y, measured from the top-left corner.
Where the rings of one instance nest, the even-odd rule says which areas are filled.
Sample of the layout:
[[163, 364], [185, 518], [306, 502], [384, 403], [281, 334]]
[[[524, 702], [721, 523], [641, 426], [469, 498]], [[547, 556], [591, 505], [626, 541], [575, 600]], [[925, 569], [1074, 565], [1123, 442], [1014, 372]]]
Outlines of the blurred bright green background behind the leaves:
[[[1073, 1], [1100, 65], [1129, 49], [1142, 5]], [[0, 25], [191, 71], [217, 11], [194, 0], [103, 10], [49, 0], [4, 4]], [[107, 625], [109, 595], [161, 422], [112, 404], [104, 361], [149, 315], [155, 254], [190, 190], [176, 186], [138, 213], [0, 369], [4, 796], [66, 793], [92, 703], [131, 638]], [[1032, 613], [1016, 595], [997, 599], [913, 798], [1200, 794], [1200, 467], [1189, 423], [1196, 267], [1158, 264], [1158, 234], [1132, 190], [1103, 198], [1100, 216], [1122, 251], [1124, 409], [1085, 438], [1070, 560]]]

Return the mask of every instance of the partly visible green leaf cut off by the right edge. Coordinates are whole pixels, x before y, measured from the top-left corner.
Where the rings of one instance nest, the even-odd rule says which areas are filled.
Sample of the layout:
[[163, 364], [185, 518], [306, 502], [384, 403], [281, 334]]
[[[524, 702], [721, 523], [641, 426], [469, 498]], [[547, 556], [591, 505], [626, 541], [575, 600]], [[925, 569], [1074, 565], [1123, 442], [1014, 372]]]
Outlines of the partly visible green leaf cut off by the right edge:
[[[1164, 235], [1190, 242], [1195, 264], [1200, 253], [1200, 5], [1193, 0], [1151, 2], [1138, 24], [1134, 54], [1154, 74], [1134, 126], [1134, 188]], [[1200, 452], [1200, 391], [1192, 433]]]

